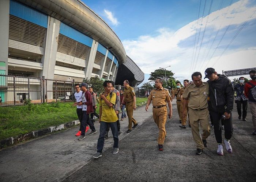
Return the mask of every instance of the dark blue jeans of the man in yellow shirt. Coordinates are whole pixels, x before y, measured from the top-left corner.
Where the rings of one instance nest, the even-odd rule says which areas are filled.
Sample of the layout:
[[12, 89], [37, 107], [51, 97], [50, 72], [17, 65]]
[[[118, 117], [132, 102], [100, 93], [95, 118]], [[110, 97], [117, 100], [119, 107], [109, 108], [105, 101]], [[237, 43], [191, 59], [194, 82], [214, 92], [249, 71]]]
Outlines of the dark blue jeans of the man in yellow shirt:
[[116, 122], [113, 123], [107, 123], [104, 121], [100, 122], [100, 127], [99, 127], [99, 139], [98, 139], [98, 144], [97, 144], [97, 151], [102, 152], [103, 146], [104, 146], [104, 141], [105, 141], [105, 134], [107, 127], [110, 126], [112, 134], [113, 134], [113, 139], [114, 139], [114, 148], [118, 148], [118, 131], [117, 131], [117, 124]]

